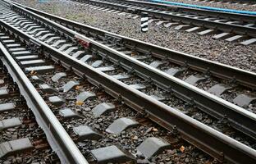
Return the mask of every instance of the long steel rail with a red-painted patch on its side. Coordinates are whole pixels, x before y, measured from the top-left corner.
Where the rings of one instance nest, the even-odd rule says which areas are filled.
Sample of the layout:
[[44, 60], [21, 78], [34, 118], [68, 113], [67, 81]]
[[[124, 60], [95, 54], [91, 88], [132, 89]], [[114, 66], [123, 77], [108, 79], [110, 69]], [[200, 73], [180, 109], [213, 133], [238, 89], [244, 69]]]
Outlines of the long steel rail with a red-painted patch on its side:
[[[235, 106], [232, 103], [226, 102], [222, 98], [218, 98], [211, 93], [207, 93], [194, 87], [193, 85], [187, 84], [176, 77], [167, 75], [158, 69], [144, 64], [143, 62], [139, 62], [132, 57], [128, 57], [121, 52], [117, 52], [112, 48], [108, 48], [101, 43], [88, 39], [73, 30], [63, 27], [62, 25], [58, 25], [53, 21], [46, 20], [42, 16], [34, 14], [31, 11], [27, 11], [26, 9], [16, 5], [12, 5], [12, 8], [24, 15], [33, 17], [37, 21], [41, 21], [42, 25], [50, 25], [52, 29], [55, 29], [55, 31], [58, 31], [61, 34], [66, 34], [66, 37], [69, 37], [73, 41], [75, 41], [77, 36], [80, 36], [85, 40], [90, 40], [89, 42], [91, 43], [91, 50], [96, 50], [99, 55], [107, 57], [114, 63], [120, 64], [128, 71], [134, 70], [137, 75], [144, 79], [150, 78], [153, 80], [153, 83], [158, 85], [160, 88], [169, 90], [178, 98], [183, 99], [185, 102], [194, 103], [194, 106], [198, 107], [203, 112], [206, 112], [219, 120], [224, 118], [227, 119], [233, 128], [240, 130], [242, 133], [249, 135], [251, 138], [256, 139], [256, 115], [254, 113], [246, 111], [244, 108]], [[253, 77], [255, 79], [255, 75]]]

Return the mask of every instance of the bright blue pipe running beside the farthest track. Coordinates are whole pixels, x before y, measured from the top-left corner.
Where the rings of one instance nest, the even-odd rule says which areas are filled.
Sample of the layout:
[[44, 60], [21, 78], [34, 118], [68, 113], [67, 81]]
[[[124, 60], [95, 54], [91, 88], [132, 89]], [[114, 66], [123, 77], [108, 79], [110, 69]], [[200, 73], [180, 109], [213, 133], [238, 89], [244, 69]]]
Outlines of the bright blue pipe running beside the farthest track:
[[256, 11], [238, 11], [238, 10], [216, 8], [216, 7], [203, 7], [203, 6], [191, 5], [191, 4], [182, 3], [182, 2], [168, 2], [168, 1], [162, 1], [162, 0], [149, 0], [149, 1], [166, 3], [174, 6], [181, 6], [181, 7], [193, 7], [193, 8], [199, 8], [204, 10], [210, 10], [210, 11], [222, 11], [222, 12], [231, 12], [236, 14], [246, 14], [246, 15], [256, 16]]

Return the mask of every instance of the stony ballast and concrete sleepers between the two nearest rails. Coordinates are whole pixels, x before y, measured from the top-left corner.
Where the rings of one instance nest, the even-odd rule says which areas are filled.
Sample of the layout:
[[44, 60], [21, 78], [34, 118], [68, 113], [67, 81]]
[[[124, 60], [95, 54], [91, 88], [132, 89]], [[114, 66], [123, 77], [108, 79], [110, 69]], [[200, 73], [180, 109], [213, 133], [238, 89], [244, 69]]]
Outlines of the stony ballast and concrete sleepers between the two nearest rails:
[[[11, 43], [12, 45], [21, 43], [22, 47], [20, 48], [26, 47], [22, 50], [23, 52], [32, 51], [35, 48], [34, 45], [31, 45], [33, 43], [27, 44], [26, 41], [21, 42], [21, 38], [15, 38], [14, 35], [9, 34], [9, 31], [3, 30], [1, 32], [5, 32], [4, 34], [1, 33], [1, 37], [9, 36], [9, 39], [15, 40], [15, 42]], [[6, 43], [7, 40], [8, 39], [1, 38], [2, 43]], [[10, 45], [10, 43], [7, 42], [5, 44], [7, 49], [2, 47], [1, 50], [8, 50], [13, 53], [13, 47], [12, 49], [8, 48], [8, 45]], [[176, 134], [175, 129], [173, 132], [163, 130], [158, 125], [155, 125], [151, 121], [145, 119], [143, 115], [133, 112], [130, 107], [122, 104], [120, 100], [112, 98], [107, 95], [107, 93], [104, 93], [97, 85], [94, 86], [91, 82], [89, 83], [89, 81], [86, 81], [84, 77], [74, 75], [72, 71], [66, 70], [61, 65], [54, 64], [50, 60], [45, 59], [40, 51], [34, 51], [34, 54], [39, 55], [39, 58], [37, 59], [38, 62], [39, 60], [44, 61], [44, 63], [41, 63], [42, 65], [44, 64], [44, 68], [45, 65], [48, 65], [54, 66], [54, 69], [34, 72], [25, 71], [26, 75], [30, 77], [32, 83], [37, 87], [44, 101], [48, 103], [48, 107], [50, 107], [53, 113], [57, 116], [58, 120], [65, 127], [65, 130], [70, 134], [76, 146], [80, 149], [80, 152], [85, 156], [89, 163], [126, 162], [134, 161], [135, 159], [145, 163], [148, 161], [148, 158], [150, 158], [149, 160], [151, 162], [169, 162], [175, 160], [178, 162], [175, 157], [178, 158], [178, 160], [181, 160], [180, 162], [184, 162], [185, 160], [189, 160], [190, 162], [204, 162], [212, 160], [206, 154], [203, 154], [194, 148], [194, 146], [182, 141], [179, 138], [179, 134]], [[5, 52], [5, 55], [10, 56], [8, 52]], [[13, 57], [16, 58], [18, 56]], [[21, 62], [21, 68], [27, 68], [26, 66], [28, 65], [24, 65], [24, 62], [26, 61], [20, 61], [20, 59], [16, 59], [16, 61]], [[33, 63], [30, 64], [30, 69], [32, 66], [37, 66], [37, 68], [39, 68], [39, 63], [34, 63], [33, 60], [29, 62]], [[66, 75], [62, 76], [61, 74]], [[75, 89], [69, 88], [67, 85], [71, 84], [74, 80], [77, 83]], [[50, 86], [50, 88], [43, 88], [43, 86], [46, 85]], [[60, 90], [60, 92], [57, 92], [58, 90]], [[90, 93], [90, 97], [86, 98], [84, 104], [74, 102], [75, 98], [72, 98], [73, 96], [80, 95], [80, 93], [85, 92]], [[95, 93], [95, 95], [92, 95], [92, 93]], [[65, 105], [63, 105], [62, 101], [51, 102], [50, 98], [53, 97], [62, 98], [62, 101], [65, 99]], [[106, 109], [108, 112], [113, 110], [115, 112], [110, 115], [106, 115], [106, 111], [98, 111], [97, 107], [99, 107], [99, 110]], [[92, 108], [93, 112], [89, 112], [91, 111], [90, 108]], [[122, 125], [118, 127], [118, 124]], [[92, 130], [93, 127], [94, 130]], [[127, 128], [129, 128], [130, 133], [126, 134], [124, 133], [124, 130]], [[145, 145], [142, 144], [140, 146], [143, 139], [155, 144], [157, 147], [154, 149], [153, 145], [147, 145], [145, 143]], [[100, 140], [100, 142], [98, 142], [98, 140]], [[170, 144], [167, 142], [170, 142]], [[115, 145], [121, 148], [126, 148], [130, 153], [134, 154], [137, 153], [138, 149], [142, 154], [137, 153], [135, 154], [136, 156], [133, 157], [130, 153], [120, 150]], [[148, 148], [147, 146], [149, 146], [151, 151], [145, 150], [145, 148]], [[168, 151], [162, 153], [161, 151], [163, 150]], [[114, 155], [106, 155], [107, 151], [114, 153]], [[105, 155], [103, 155], [102, 152], [105, 152]], [[161, 155], [151, 157], [153, 155], [158, 155], [158, 153], [161, 153]], [[189, 153], [195, 154], [195, 156], [192, 157]], [[146, 155], [147, 159], [144, 159], [144, 155]], [[179, 159], [181, 156], [183, 157]], [[72, 158], [70, 158], [70, 161], [62, 162], [71, 163], [71, 159]], [[75, 163], [86, 162], [76, 161]]]

